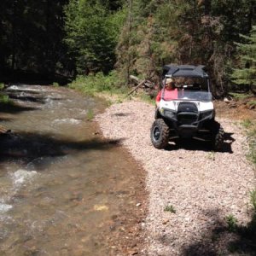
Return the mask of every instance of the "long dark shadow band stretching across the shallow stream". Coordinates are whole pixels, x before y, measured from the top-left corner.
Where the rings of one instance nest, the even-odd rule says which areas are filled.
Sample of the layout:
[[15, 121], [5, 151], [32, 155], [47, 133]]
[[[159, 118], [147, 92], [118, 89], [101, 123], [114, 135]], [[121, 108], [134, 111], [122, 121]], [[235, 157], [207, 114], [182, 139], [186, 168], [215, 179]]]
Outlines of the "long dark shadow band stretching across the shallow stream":
[[0, 134], [0, 162], [20, 160], [26, 163], [39, 157], [57, 157], [72, 154], [73, 151], [108, 150], [118, 147], [121, 140], [102, 140], [95, 138], [83, 142], [60, 140], [51, 134], [12, 132]]

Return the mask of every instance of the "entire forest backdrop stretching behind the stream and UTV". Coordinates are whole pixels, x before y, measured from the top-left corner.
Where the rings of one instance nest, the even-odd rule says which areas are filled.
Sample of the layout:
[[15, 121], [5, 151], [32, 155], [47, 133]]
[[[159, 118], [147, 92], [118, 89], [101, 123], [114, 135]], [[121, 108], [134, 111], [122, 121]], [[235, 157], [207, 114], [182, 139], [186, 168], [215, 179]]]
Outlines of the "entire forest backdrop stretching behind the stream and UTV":
[[[2, 0], [0, 77], [119, 88], [202, 64], [214, 96], [256, 91], [256, 0]], [[106, 85], [107, 84], [107, 85]]]

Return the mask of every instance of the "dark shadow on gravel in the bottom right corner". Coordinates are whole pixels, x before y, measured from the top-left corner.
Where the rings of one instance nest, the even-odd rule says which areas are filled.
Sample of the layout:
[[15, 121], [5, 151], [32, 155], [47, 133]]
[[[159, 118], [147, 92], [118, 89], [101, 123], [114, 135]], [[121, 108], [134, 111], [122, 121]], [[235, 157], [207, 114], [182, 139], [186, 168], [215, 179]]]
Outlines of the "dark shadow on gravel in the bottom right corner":
[[201, 237], [183, 247], [184, 256], [256, 255], [256, 212], [246, 226], [228, 223], [218, 210], [207, 212], [214, 226], [205, 224]]

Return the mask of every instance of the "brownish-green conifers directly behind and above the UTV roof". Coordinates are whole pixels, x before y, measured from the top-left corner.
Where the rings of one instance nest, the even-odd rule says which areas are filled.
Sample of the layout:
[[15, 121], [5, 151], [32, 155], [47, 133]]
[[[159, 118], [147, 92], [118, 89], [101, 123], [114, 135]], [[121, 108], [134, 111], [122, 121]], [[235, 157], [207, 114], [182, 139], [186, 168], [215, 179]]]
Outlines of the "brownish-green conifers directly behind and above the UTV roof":
[[[117, 67], [126, 79], [160, 74], [164, 64], [203, 64], [214, 94], [229, 84], [234, 40], [250, 29], [253, 2], [133, 0], [117, 47]], [[251, 21], [250, 21], [251, 20]]]

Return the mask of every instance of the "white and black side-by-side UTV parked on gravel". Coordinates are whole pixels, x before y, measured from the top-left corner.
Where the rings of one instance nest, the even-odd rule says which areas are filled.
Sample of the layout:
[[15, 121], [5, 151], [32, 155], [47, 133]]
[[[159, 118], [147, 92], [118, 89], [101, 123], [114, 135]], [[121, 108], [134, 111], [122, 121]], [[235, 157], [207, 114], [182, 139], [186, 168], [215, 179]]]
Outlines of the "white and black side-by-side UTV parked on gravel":
[[[172, 99], [165, 97], [166, 79], [175, 81]], [[224, 130], [215, 120], [209, 76], [204, 66], [166, 65], [163, 69], [160, 104], [156, 108], [150, 137], [155, 148], [166, 148], [175, 138], [195, 138], [220, 150]]]

